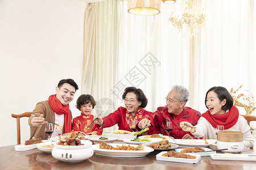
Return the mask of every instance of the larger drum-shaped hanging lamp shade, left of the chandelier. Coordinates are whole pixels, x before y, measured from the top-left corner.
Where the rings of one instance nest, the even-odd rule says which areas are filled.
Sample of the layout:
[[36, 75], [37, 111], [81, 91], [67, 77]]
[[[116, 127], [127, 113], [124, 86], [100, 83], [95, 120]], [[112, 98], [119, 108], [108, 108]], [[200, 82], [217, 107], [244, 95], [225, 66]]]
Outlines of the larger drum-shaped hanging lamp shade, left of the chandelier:
[[161, 0], [128, 0], [128, 12], [134, 15], [156, 15], [160, 13]]

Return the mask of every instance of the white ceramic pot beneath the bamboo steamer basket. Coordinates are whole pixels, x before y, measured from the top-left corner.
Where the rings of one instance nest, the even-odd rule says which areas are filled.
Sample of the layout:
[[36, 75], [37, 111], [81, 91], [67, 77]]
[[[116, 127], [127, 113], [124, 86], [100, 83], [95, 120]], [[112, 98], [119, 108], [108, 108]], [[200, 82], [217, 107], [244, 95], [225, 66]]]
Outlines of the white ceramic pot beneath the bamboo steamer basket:
[[243, 151], [244, 144], [243, 144], [243, 142], [221, 142], [221, 141], [217, 141], [217, 148], [218, 148], [218, 150], [228, 148], [228, 150], [224, 150], [222, 152], [238, 153], [238, 152]]

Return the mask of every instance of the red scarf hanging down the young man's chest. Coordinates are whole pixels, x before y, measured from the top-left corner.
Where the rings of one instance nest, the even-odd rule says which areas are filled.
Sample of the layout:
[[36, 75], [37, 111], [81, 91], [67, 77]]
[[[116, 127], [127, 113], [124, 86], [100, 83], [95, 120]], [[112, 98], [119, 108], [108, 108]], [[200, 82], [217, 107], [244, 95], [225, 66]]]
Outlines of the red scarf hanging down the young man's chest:
[[56, 114], [64, 114], [64, 126], [65, 126], [64, 133], [71, 132], [72, 125], [71, 125], [71, 113], [69, 110], [69, 104], [63, 105], [62, 103], [60, 103], [60, 100], [56, 98], [56, 95], [49, 96], [48, 101], [52, 110]]

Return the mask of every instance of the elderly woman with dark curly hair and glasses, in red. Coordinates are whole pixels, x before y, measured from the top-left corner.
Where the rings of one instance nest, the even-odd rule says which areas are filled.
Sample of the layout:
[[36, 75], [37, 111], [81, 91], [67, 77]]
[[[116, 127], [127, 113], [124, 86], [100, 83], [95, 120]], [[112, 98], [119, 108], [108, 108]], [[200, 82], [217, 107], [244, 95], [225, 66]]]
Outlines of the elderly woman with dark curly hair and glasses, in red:
[[139, 122], [143, 116], [152, 114], [152, 112], [144, 109], [147, 106], [147, 97], [141, 89], [127, 87], [122, 99], [125, 102], [125, 108], [119, 107], [117, 111], [103, 118], [98, 116], [96, 124], [100, 125], [101, 128], [109, 128], [117, 124], [119, 130], [132, 131], [130, 127], [131, 120]]

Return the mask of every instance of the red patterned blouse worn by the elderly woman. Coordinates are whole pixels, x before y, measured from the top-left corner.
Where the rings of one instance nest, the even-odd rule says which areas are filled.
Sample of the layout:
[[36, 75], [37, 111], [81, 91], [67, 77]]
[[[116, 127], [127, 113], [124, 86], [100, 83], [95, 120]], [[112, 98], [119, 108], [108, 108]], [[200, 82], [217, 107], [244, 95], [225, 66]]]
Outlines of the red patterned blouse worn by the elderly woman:
[[103, 117], [104, 123], [101, 128], [109, 128], [118, 125], [119, 130], [132, 131], [130, 129], [131, 120], [141, 121], [142, 117], [147, 117], [152, 112], [146, 111], [143, 108], [139, 108], [138, 111], [134, 114], [134, 118], [131, 116], [130, 112], [127, 112], [127, 109], [124, 107], [119, 107], [117, 111], [110, 113], [108, 116]]

